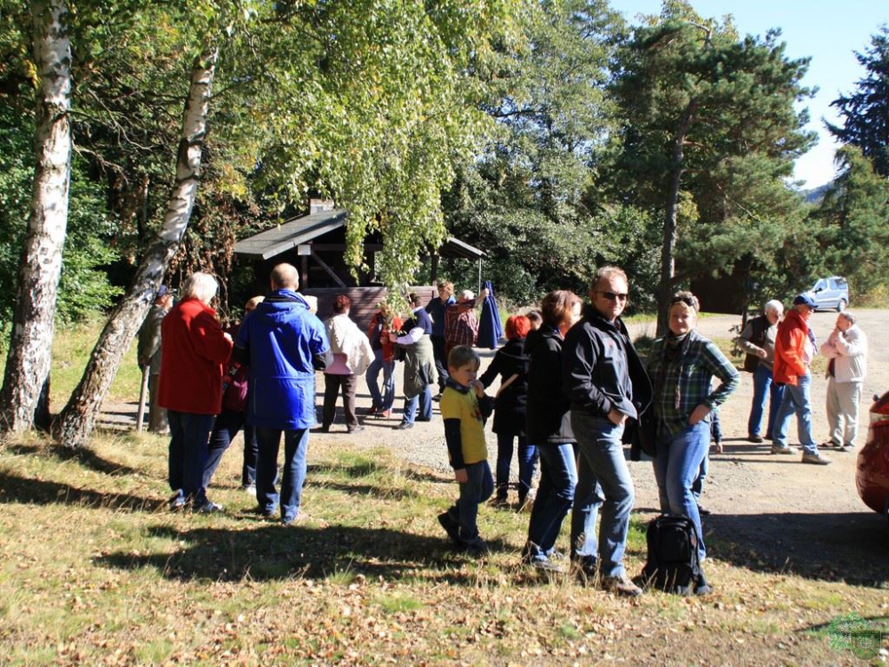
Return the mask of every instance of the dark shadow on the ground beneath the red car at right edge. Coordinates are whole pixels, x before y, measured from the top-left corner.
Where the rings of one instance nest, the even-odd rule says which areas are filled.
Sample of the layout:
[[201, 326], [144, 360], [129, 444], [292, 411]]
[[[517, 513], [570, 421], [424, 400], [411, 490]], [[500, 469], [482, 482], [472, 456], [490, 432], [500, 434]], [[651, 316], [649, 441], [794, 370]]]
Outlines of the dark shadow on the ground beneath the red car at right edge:
[[876, 512], [714, 514], [710, 556], [760, 572], [880, 588], [889, 581], [889, 530]]

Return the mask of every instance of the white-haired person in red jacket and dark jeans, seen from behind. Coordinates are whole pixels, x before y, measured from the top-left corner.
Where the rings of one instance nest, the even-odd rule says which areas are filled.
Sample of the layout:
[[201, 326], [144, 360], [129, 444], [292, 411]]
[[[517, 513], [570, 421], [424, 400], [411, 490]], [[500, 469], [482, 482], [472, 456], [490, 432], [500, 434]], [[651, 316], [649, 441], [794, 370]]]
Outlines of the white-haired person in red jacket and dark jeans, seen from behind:
[[207, 500], [203, 480], [213, 417], [222, 406], [222, 365], [232, 349], [209, 305], [218, 286], [209, 274], [192, 274], [182, 285], [182, 301], [161, 324], [158, 403], [170, 421], [171, 505], [200, 512], [222, 509]]

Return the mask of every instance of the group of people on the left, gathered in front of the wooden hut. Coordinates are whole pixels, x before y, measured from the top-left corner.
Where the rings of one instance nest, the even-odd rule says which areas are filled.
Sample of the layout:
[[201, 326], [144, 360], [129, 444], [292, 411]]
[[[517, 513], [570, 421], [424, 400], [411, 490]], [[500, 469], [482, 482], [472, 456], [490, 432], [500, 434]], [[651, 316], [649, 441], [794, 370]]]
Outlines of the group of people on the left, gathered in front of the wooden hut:
[[[170, 435], [172, 508], [206, 513], [222, 510], [209, 500], [207, 488], [222, 454], [243, 429], [244, 490], [255, 495], [261, 515], [280, 514], [284, 524], [301, 516], [308, 434], [316, 425], [316, 372], [324, 374], [318, 432], [331, 430], [340, 393], [348, 433], [364, 430], [356, 414], [356, 389], [365, 373], [372, 395], [368, 414], [391, 414], [398, 350], [404, 359], [405, 401], [402, 422], [396, 428], [411, 428], [415, 420], [429, 421], [431, 387], [438, 382], [434, 326], [441, 321], [449, 332], [443, 353], [457, 345], [450, 333], [458, 336], [456, 340], [474, 344], [478, 329], [474, 309], [488, 296], [483, 290], [477, 300], [465, 292], [460, 301], [445, 303], [433, 318], [420, 297], [410, 294], [411, 317], [402, 322], [382, 303], [364, 333], [349, 317], [348, 295], [334, 298], [334, 314], [322, 322], [316, 317], [316, 302], [298, 292], [297, 270], [279, 264], [270, 276], [271, 291], [248, 301], [243, 320], [225, 330], [210, 307], [218, 287], [209, 274], [195, 273], [182, 285], [175, 305], [165, 285], [156, 293], [140, 330], [137, 352], [140, 365], [149, 373], [149, 430]], [[443, 302], [448, 301], [453, 285], [443, 284], [440, 294], [445, 294]], [[277, 458], [282, 436], [279, 491]]]

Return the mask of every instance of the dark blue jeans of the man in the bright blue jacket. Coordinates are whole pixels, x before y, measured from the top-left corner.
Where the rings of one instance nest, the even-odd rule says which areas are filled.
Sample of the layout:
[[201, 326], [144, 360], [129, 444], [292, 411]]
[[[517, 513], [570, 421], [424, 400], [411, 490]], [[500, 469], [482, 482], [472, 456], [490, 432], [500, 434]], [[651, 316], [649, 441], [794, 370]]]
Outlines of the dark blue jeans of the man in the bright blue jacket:
[[[284, 433], [284, 475], [281, 495], [277, 494], [277, 453]], [[268, 429], [256, 427], [256, 441], [260, 445], [256, 459], [256, 502], [260, 512], [274, 514], [281, 502], [281, 520], [290, 523], [300, 514], [302, 485], [306, 481], [306, 454], [308, 453], [308, 429]]]

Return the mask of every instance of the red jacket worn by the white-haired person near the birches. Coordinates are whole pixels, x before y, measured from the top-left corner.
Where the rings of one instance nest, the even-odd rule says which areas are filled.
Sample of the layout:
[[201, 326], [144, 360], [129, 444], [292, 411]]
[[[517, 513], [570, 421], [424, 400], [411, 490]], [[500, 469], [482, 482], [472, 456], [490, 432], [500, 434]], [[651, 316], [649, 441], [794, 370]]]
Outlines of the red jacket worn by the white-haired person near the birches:
[[180, 413], [220, 414], [222, 365], [232, 343], [216, 311], [197, 299], [180, 301], [164, 317], [161, 340], [158, 404]]

